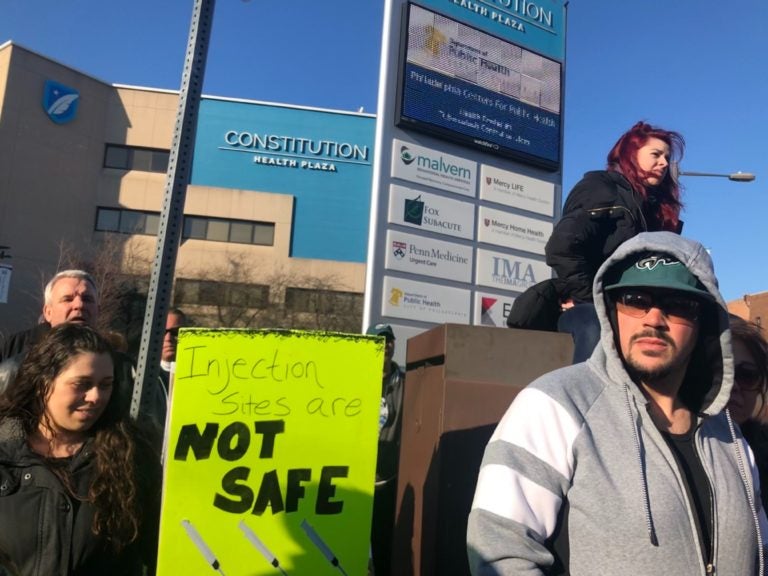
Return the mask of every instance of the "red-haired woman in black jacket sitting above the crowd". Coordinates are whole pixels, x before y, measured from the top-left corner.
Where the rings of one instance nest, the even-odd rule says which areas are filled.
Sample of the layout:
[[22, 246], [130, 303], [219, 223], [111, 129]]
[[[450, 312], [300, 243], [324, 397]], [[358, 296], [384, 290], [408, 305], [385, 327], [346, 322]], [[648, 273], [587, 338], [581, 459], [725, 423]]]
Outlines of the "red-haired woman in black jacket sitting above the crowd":
[[680, 187], [669, 167], [684, 148], [677, 132], [638, 122], [611, 148], [606, 170], [587, 172], [568, 195], [546, 256], [563, 310], [557, 327], [573, 336], [574, 363], [586, 360], [600, 337], [592, 304], [600, 265], [640, 232], [680, 232]]

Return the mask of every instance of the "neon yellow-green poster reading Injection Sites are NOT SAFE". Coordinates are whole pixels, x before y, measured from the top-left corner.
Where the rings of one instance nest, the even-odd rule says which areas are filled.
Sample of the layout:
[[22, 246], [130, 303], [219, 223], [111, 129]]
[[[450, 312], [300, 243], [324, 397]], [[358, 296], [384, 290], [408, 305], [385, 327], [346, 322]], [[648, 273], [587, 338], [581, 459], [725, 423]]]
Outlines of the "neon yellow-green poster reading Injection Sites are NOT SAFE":
[[160, 576], [366, 574], [383, 339], [182, 330]]

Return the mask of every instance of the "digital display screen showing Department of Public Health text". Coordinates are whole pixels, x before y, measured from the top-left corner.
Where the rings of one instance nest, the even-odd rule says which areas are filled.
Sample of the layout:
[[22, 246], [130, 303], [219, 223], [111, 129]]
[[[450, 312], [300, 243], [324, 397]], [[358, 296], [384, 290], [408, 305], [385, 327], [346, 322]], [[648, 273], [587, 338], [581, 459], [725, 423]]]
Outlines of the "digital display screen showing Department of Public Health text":
[[560, 167], [559, 62], [416, 4], [406, 17], [401, 128]]

